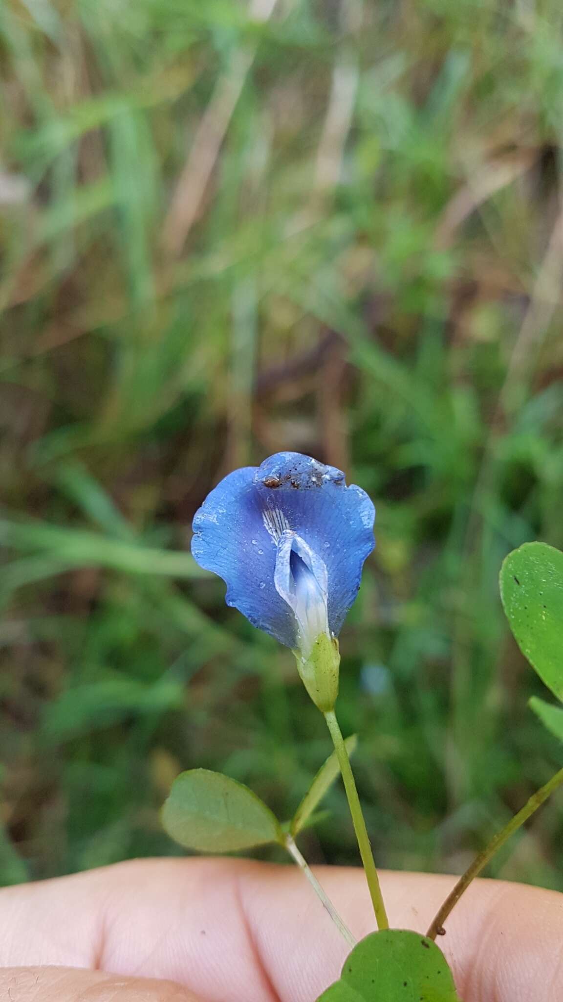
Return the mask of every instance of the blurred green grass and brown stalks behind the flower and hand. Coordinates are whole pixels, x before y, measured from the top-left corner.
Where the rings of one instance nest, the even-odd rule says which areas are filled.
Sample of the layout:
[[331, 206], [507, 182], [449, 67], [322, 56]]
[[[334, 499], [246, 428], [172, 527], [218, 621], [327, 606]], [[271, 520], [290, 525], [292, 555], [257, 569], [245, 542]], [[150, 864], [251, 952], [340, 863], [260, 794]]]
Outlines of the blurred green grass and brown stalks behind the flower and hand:
[[[461, 870], [561, 765], [497, 578], [563, 545], [562, 22], [4, 0], [3, 883], [178, 852], [181, 769], [295, 810], [323, 719], [188, 554], [210, 487], [279, 449], [378, 507], [340, 707], [378, 861]], [[303, 850], [354, 862], [329, 807]], [[493, 872], [563, 889], [562, 836], [553, 804]]]

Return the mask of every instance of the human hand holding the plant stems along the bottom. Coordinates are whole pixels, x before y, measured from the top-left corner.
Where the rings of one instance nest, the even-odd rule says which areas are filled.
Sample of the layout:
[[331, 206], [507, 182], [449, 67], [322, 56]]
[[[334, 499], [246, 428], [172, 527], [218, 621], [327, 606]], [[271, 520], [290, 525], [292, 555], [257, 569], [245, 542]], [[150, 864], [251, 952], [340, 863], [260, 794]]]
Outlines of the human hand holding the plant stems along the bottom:
[[[318, 877], [358, 939], [364, 873]], [[383, 873], [392, 926], [424, 931], [451, 877]], [[560, 1002], [563, 896], [477, 881], [440, 946], [464, 1002]], [[314, 1002], [348, 952], [298, 870], [146, 860], [0, 891], [4, 1002]]]

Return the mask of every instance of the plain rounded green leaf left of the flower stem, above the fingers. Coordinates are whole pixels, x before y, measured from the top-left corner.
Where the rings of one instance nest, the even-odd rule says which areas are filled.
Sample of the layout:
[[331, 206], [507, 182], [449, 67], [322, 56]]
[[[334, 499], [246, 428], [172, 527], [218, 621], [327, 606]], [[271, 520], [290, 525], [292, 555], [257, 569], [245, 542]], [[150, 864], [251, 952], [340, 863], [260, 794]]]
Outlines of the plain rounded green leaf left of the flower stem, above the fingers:
[[184, 849], [234, 853], [268, 842], [285, 845], [275, 816], [235, 780], [206, 769], [181, 773], [162, 808], [162, 824]]

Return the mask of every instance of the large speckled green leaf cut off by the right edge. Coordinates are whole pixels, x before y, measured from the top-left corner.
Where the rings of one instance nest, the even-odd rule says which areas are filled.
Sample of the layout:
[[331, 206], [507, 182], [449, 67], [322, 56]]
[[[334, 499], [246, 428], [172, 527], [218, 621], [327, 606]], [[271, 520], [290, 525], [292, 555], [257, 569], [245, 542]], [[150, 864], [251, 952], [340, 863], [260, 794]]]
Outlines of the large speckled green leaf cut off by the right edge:
[[563, 553], [546, 543], [524, 543], [504, 561], [500, 585], [518, 646], [563, 700]]

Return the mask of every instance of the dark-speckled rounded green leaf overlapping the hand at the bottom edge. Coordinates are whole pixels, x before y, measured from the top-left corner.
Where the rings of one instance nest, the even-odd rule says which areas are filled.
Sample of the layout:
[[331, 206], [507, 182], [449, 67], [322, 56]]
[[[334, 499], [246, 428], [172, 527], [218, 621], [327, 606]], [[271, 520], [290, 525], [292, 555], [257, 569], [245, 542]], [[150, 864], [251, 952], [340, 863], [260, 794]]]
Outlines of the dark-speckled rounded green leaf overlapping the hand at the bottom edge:
[[460, 1002], [442, 951], [420, 933], [371, 933], [318, 1002]]

